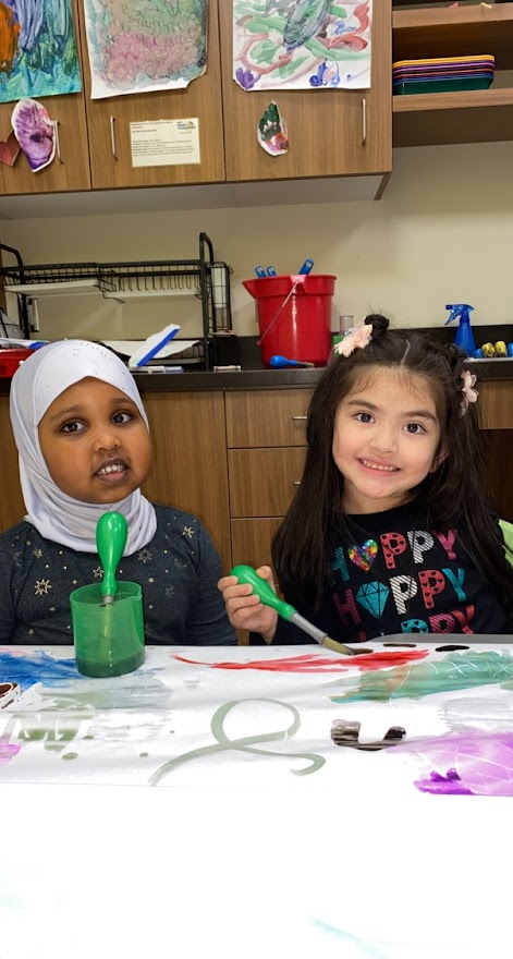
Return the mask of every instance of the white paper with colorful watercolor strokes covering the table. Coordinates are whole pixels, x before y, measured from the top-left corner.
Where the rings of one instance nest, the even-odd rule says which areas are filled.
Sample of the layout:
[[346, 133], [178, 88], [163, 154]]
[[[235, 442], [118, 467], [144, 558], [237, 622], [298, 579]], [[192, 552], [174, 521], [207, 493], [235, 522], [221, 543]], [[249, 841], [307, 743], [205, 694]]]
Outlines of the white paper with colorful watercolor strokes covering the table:
[[512, 797], [508, 646], [376, 647], [148, 647], [110, 679], [82, 676], [72, 647], [0, 648], [0, 784]]

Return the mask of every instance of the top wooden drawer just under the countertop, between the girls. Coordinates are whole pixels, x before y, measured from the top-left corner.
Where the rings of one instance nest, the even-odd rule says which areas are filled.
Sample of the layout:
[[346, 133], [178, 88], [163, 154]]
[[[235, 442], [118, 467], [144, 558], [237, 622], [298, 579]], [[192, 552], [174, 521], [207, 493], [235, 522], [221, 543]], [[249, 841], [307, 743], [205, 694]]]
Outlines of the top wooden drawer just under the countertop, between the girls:
[[305, 446], [312, 389], [227, 393], [228, 446]]

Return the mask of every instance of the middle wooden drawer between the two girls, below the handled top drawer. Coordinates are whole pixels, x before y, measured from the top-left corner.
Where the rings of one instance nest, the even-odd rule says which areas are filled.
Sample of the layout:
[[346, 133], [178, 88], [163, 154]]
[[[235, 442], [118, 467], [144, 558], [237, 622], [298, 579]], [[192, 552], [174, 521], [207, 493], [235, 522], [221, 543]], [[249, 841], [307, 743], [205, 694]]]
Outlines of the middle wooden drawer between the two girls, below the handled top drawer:
[[228, 451], [231, 517], [282, 517], [303, 474], [306, 448]]

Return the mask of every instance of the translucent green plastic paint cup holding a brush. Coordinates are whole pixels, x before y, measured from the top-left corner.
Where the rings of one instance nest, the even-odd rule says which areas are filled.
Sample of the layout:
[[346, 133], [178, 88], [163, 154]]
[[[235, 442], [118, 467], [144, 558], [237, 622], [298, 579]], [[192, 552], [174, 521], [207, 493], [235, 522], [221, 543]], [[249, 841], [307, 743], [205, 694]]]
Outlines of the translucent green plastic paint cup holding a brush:
[[102, 606], [101, 599], [99, 583], [70, 596], [76, 668], [84, 676], [123, 676], [144, 663], [143, 591], [118, 583], [114, 602]]

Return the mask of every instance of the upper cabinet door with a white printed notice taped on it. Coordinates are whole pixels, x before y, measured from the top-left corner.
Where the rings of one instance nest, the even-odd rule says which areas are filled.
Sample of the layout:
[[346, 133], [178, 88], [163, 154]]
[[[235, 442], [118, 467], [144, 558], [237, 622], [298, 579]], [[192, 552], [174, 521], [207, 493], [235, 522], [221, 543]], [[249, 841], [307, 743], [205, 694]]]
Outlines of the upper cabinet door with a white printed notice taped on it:
[[[84, 13], [82, 59], [94, 189], [211, 183], [224, 180], [221, 68], [217, 0], [209, 0], [207, 70], [186, 88], [90, 99]], [[131, 123], [197, 119], [200, 162], [133, 166]]]

